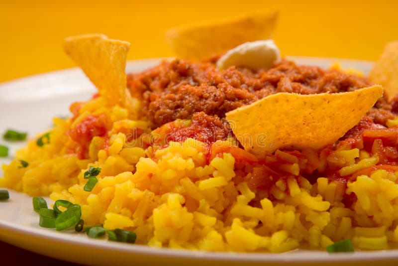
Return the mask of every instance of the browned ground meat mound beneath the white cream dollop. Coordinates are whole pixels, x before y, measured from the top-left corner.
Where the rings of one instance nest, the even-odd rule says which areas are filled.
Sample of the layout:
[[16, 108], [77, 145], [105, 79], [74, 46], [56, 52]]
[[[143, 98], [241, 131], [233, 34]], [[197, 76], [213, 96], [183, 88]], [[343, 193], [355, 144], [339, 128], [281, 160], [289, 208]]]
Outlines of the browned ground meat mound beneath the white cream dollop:
[[[193, 63], [173, 60], [139, 74], [130, 74], [127, 87], [134, 97], [143, 102], [142, 115], [153, 122], [154, 128], [176, 119], [191, 119], [195, 114], [203, 121], [204, 115], [214, 116], [225, 127], [225, 113], [251, 104], [279, 92], [317, 94], [353, 91], [371, 85], [366, 77], [347, 74], [316, 66], [298, 66], [282, 60], [273, 68], [253, 72], [230, 67], [217, 71], [213, 62]], [[387, 103], [381, 98], [364, 120], [385, 126], [398, 110], [396, 101]], [[222, 122], [224, 121], [224, 122]], [[351, 134], [351, 133], [349, 133]], [[220, 135], [223, 135], [220, 133]]]

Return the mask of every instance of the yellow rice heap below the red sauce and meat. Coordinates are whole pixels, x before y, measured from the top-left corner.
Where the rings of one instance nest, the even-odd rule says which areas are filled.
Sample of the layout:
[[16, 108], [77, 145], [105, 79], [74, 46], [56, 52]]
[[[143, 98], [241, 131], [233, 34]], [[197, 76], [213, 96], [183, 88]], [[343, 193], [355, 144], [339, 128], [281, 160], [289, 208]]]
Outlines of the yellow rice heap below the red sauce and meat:
[[[284, 170], [297, 178], [276, 182], [268, 192], [275, 197], [271, 201], [267, 192], [252, 191], [244, 181], [235, 184], [242, 173], [234, 171], [230, 153], [207, 164], [198, 140], [170, 142], [156, 151], [127, 143], [118, 131], [123, 125], [150, 131], [149, 122], [139, 120], [137, 113], [106, 107], [99, 97], [85, 103], [74, 122], [54, 119], [50, 144], [38, 147], [35, 139], [29, 141], [16, 159], [3, 165], [0, 186], [80, 204], [87, 226], [132, 230], [137, 243], [156, 247], [280, 253], [299, 247], [324, 249], [346, 238], [363, 250], [388, 249], [398, 242], [398, 173], [377, 170], [349, 181], [346, 193], [354, 193], [357, 200], [347, 208], [335, 183], [319, 177], [311, 185], [299, 175], [297, 157], [277, 151], [291, 162]], [[100, 149], [94, 137], [90, 157], [82, 160], [65, 150], [65, 133], [89, 114], [106, 115], [113, 129], [108, 150]], [[342, 176], [378, 162], [358, 149], [335, 152], [343, 158], [333, 162]], [[29, 166], [19, 168], [18, 159]], [[322, 163], [330, 162], [320, 167]], [[83, 174], [90, 166], [101, 172], [87, 192]], [[260, 204], [251, 206], [253, 200]]]

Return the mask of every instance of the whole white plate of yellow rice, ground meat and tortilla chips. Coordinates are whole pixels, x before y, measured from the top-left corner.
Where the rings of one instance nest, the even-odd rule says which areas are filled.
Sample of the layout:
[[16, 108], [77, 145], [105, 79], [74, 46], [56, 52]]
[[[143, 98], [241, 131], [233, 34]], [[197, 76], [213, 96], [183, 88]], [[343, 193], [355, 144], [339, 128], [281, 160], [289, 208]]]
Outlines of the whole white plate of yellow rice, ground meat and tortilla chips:
[[85, 265], [396, 264], [398, 45], [281, 56], [275, 16], [172, 30], [177, 58], [68, 37], [81, 69], [1, 84], [0, 240]]

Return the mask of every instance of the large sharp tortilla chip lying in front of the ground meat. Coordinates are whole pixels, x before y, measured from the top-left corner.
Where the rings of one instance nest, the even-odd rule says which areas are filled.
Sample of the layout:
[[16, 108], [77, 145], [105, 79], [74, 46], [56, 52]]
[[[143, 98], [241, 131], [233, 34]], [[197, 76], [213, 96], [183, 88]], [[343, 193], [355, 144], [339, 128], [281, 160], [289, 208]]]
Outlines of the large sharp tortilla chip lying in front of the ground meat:
[[278, 148], [321, 148], [353, 128], [383, 95], [375, 85], [353, 92], [277, 93], [226, 113], [245, 150], [264, 157]]

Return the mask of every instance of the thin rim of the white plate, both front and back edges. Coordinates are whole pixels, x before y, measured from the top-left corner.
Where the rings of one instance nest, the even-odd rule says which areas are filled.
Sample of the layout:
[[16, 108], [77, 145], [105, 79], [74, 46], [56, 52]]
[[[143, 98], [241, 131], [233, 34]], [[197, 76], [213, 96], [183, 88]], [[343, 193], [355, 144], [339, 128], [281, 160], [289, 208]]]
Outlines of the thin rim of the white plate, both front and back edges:
[[[370, 68], [374, 62], [367, 60], [356, 60], [356, 59], [342, 59], [342, 58], [327, 58], [327, 57], [308, 57], [308, 56], [288, 56], [290, 60], [294, 61], [311, 61], [311, 62], [327, 62], [331, 64], [333, 62], [348, 63], [348, 64], [360, 64], [367, 68]], [[126, 64], [126, 69], [131, 66], [137, 66], [141, 64], [148, 63], [158, 63], [161, 60], [169, 58], [147, 58], [138, 60], [129, 60]], [[63, 75], [64, 73], [70, 73], [75, 71], [81, 71], [80, 68], [67, 68], [61, 70], [50, 71], [46, 73], [39, 73], [30, 75], [27, 77], [21, 77], [9, 81], [0, 83], [0, 94], [4, 85], [12, 86], [13, 83], [20, 81], [26, 81], [28, 79], [42, 79], [53, 75]], [[130, 73], [130, 72], [128, 72]], [[23, 194], [21, 192], [13, 191], [13, 193]], [[81, 242], [81, 239], [74, 238], [64, 238], [63, 233], [57, 232], [56, 236], [53, 234], [43, 234], [47, 229], [41, 228], [29, 228], [24, 225], [12, 224], [10, 222], [1, 220], [0, 218], [0, 231], [8, 232], [19, 232], [24, 233], [26, 236], [35, 237], [38, 239], [46, 240], [51, 239], [53, 241], [68, 242], [70, 244], [79, 244], [85, 247], [105, 249], [107, 251], [122, 251], [131, 255], [141, 254], [146, 256], [156, 256], [156, 257], [168, 257], [176, 259], [185, 260], [202, 260], [202, 261], [238, 261], [238, 262], [262, 262], [262, 263], [275, 263], [275, 262], [297, 262], [297, 263], [316, 263], [316, 262], [346, 262], [347, 260], [363, 262], [367, 260], [397, 260], [398, 250], [384, 250], [384, 251], [356, 251], [350, 254], [328, 254], [325, 251], [312, 251], [312, 250], [302, 250], [305, 252], [311, 252], [312, 256], [310, 258], [305, 258], [305, 256], [296, 256], [294, 252], [282, 253], [282, 254], [272, 254], [272, 253], [237, 253], [237, 252], [206, 252], [206, 251], [190, 251], [190, 250], [177, 250], [171, 248], [154, 248], [145, 245], [130, 245], [123, 243], [111, 243], [111, 245], [104, 245], [103, 241], [92, 240], [87, 238], [88, 241]], [[60, 237], [58, 237], [58, 235]], [[284, 256], [289, 254], [289, 256]], [[315, 256], [316, 255], [316, 256]], [[382, 256], [381, 256], [382, 255]]]

